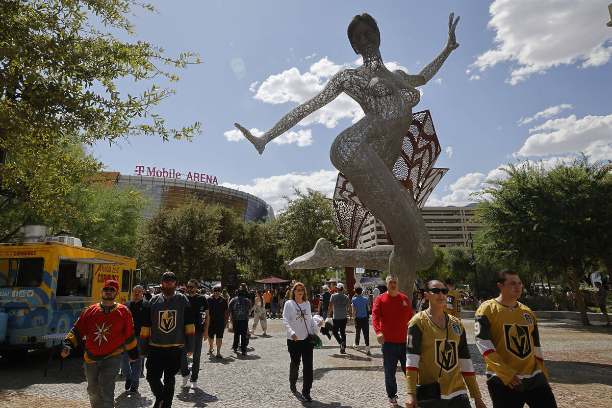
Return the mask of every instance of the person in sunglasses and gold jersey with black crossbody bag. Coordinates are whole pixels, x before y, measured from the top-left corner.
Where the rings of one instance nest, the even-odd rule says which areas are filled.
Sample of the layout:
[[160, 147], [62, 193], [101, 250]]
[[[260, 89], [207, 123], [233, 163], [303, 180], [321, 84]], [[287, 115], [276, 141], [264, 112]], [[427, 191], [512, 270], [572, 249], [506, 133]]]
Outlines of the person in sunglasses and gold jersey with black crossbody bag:
[[[428, 281], [425, 297], [429, 306], [408, 324], [405, 401], [408, 408], [469, 408], [468, 390], [476, 408], [486, 408], [476, 383], [465, 328], [460, 319], [444, 311], [447, 293], [441, 281]], [[440, 385], [440, 399], [417, 401], [417, 385], [435, 382]]]

